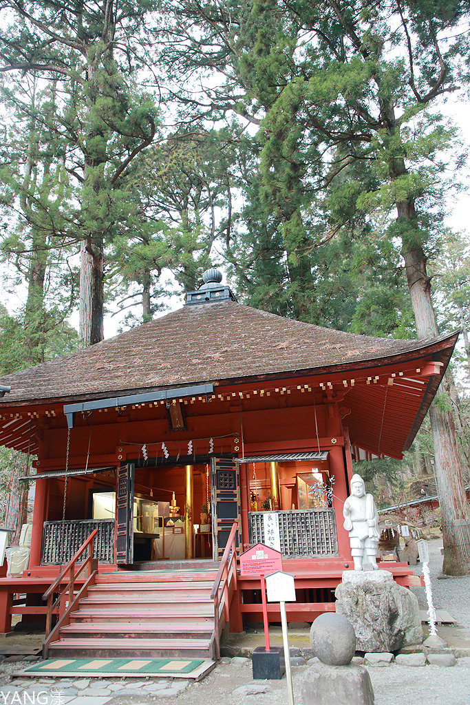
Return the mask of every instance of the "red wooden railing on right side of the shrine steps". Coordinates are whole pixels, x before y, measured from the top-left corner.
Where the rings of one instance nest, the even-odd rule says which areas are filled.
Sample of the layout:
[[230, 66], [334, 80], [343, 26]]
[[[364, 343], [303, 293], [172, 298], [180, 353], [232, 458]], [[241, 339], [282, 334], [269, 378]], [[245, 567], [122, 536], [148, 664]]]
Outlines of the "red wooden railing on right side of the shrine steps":
[[[236, 534], [238, 524], [233, 524], [228, 537], [225, 551], [221, 560], [221, 565], [218, 568], [216, 580], [211, 591], [211, 599], [214, 600], [214, 658], [221, 658], [221, 627], [223, 623], [230, 619], [230, 599], [234, 591], [237, 589], [237, 551], [236, 551]], [[223, 589], [221, 590], [221, 582]], [[223, 608], [223, 609], [222, 609]], [[223, 613], [223, 623], [221, 623], [221, 615]]]

